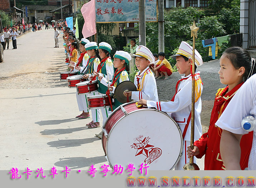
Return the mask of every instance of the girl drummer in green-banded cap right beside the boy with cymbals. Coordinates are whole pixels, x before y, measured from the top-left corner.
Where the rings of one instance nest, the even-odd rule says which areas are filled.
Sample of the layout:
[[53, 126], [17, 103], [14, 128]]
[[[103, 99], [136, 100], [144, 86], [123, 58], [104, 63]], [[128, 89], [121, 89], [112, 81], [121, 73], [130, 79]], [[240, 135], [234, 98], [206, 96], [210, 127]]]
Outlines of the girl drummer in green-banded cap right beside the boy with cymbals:
[[[119, 85], [119, 83], [123, 82], [123, 81], [129, 81], [130, 77], [128, 72], [126, 71], [126, 66], [129, 65], [129, 61], [131, 60], [131, 56], [128, 52], [124, 52], [124, 51], [116, 51], [115, 55], [114, 55], [114, 62], [113, 65], [116, 69], [115, 74], [113, 76], [113, 80], [112, 82], [109, 82], [109, 90], [107, 90], [106, 94], [109, 93], [115, 93], [115, 88], [117, 85]], [[99, 77], [100, 82], [105, 85], [108, 86], [108, 81], [105, 77]], [[111, 111], [115, 110], [117, 107], [119, 107], [122, 103], [120, 103], [119, 101], [116, 100], [115, 98], [115, 104], [114, 106], [112, 106], [112, 109], [110, 109]], [[101, 138], [101, 133], [96, 133], [95, 135], [98, 136], [99, 138]]]

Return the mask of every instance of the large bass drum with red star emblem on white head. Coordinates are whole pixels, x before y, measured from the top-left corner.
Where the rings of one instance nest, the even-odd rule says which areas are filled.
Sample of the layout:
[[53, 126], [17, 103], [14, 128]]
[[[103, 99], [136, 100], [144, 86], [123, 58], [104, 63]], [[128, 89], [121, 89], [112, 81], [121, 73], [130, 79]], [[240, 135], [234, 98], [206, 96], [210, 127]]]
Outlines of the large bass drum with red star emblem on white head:
[[102, 147], [110, 166], [147, 164], [149, 170], [171, 170], [182, 155], [180, 127], [166, 113], [125, 103], [102, 127]]

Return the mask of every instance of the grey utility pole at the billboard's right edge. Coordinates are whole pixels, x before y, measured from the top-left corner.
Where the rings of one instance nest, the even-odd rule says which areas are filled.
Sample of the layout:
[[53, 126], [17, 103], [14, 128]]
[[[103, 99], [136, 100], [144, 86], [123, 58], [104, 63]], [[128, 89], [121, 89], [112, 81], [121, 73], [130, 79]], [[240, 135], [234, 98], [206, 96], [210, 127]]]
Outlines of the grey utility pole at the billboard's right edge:
[[164, 52], [164, 1], [158, 0], [158, 52]]

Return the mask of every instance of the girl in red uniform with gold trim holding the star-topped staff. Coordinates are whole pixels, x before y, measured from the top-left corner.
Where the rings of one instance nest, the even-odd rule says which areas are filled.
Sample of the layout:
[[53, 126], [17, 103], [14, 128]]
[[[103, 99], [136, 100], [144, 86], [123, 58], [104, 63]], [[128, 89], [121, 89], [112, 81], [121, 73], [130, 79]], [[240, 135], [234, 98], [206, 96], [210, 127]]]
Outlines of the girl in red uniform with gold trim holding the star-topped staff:
[[[251, 56], [246, 50], [240, 47], [226, 49], [221, 56], [219, 65], [220, 69], [218, 73], [220, 81], [228, 86], [219, 89], [216, 93], [208, 132], [204, 133], [201, 138], [194, 142], [193, 150], [190, 146], [188, 146], [187, 150], [189, 157], [195, 156], [202, 158], [205, 155], [204, 170], [226, 169], [219, 151], [222, 129], [215, 125], [215, 123], [221, 117], [228, 103], [243, 85], [244, 81], [251, 76], [250, 72], [256, 72], [256, 67], [254, 70], [252, 68], [253, 61]], [[240, 166], [242, 170], [248, 167], [248, 158], [252, 147], [252, 133], [244, 134], [240, 141]]]

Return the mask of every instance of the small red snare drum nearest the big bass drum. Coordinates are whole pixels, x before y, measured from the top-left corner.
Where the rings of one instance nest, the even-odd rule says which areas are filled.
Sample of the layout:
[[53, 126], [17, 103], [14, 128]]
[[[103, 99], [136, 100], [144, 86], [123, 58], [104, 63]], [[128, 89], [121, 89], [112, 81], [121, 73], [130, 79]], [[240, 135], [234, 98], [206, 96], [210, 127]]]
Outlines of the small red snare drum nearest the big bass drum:
[[113, 94], [110, 94], [110, 101], [108, 96], [105, 94], [102, 95], [92, 95], [87, 97], [88, 108], [89, 109], [99, 109], [99, 108], [111, 108], [110, 103], [114, 106], [114, 97]]

